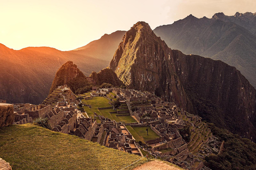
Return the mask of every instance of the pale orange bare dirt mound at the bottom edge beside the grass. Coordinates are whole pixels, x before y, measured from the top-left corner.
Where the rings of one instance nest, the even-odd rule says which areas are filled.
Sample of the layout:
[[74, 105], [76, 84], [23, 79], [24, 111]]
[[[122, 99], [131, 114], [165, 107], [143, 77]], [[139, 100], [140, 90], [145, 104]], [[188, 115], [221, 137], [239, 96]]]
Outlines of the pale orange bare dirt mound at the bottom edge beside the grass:
[[133, 170], [180, 170], [180, 168], [166, 164], [160, 160], [153, 160], [151, 162], [135, 167]]

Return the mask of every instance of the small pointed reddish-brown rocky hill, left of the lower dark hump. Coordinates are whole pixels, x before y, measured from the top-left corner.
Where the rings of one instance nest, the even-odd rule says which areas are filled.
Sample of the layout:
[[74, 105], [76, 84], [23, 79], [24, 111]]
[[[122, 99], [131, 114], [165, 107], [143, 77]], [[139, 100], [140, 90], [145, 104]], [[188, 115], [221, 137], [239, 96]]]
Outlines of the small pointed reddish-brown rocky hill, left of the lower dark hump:
[[55, 74], [55, 78], [52, 82], [50, 93], [58, 86], [67, 84], [70, 89], [75, 92], [78, 88], [89, 85], [89, 81], [85, 75], [77, 68], [77, 65], [68, 61], [63, 64]]

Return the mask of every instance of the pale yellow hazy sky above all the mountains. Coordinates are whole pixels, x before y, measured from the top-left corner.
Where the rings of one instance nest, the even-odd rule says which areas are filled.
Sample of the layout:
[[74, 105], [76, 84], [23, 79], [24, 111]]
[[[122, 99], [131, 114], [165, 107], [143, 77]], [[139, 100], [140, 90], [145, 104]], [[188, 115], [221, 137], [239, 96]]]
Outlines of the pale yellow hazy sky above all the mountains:
[[256, 12], [255, 0], [0, 0], [0, 43], [9, 48], [48, 46], [71, 50], [105, 33], [129, 30], [137, 21], [151, 29], [189, 14]]

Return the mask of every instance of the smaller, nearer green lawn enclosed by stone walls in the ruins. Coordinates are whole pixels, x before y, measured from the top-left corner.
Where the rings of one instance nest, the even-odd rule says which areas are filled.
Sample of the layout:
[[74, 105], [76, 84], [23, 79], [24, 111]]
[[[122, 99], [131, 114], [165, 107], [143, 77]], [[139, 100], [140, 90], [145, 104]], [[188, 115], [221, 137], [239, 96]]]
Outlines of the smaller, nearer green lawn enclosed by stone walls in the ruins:
[[132, 134], [132, 136], [135, 138], [135, 140], [138, 141], [148, 141], [159, 138], [159, 136], [150, 128], [148, 128], [148, 135], [147, 135], [147, 127], [132, 127], [132, 126], [126, 126], [126, 128], [129, 130], [129, 132]]

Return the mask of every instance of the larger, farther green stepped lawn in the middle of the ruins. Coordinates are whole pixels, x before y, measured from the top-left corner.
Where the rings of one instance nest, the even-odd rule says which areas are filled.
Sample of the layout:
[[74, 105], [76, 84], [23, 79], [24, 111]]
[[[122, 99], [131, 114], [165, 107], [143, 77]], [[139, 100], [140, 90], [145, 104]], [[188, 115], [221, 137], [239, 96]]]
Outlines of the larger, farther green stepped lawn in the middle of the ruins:
[[[104, 117], [108, 117], [111, 120], [115, 120], [117, 122], [124, 122], [124, 123], [133, 123], [136, 122], [131, 116], [116, 116], [116, 113], [109, 113], [109, 112], [115, 112], [113, 109], [102, 109], [99, 110], [98, 107], [110, 107], [109, 100], [105, 97], [93, 97], [89, 100], [82, 100], [83, 104], [91, 105], [92, 107], [89, 108], [87, 106], [84, 106], [84, 110], [87, 113], [87, 115], [90, 117], [93, 117], [93, 112], [102, 115]], [[122, 111], [118, 109], [119, 111]], [[98, 120], [99, 121], [99, 120]]]

